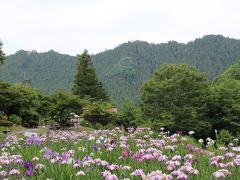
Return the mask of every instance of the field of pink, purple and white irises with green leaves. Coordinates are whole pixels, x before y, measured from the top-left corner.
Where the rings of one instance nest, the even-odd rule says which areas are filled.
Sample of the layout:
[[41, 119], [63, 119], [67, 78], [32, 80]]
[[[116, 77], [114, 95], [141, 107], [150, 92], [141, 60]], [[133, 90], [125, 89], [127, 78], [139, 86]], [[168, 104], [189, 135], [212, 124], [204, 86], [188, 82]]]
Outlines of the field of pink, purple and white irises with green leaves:
[[9, 136], [1, 143], [0, 179], [237, 179], [240, 155], [214, 143], [164, 128]]

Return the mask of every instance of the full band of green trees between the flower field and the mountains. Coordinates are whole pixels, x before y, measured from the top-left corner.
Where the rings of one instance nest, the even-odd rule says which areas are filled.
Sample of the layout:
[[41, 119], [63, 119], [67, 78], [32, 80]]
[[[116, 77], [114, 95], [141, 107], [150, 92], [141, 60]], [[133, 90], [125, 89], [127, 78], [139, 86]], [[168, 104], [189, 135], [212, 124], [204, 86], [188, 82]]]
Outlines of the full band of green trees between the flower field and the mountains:
[[88, 52], [77, 59], [71, 93], [46, 96], [29, 86], [0, 81], [1, 125], [58, 123], [65, 128], [72, 125], [74, 112], [83, 114], [82, 125], [96, 129], [164, 127], [171, 132], [193, 130], [198, 137], [213, 137], [215, 130], [224, 130], [226, 137], [240, 136], [240, 62], [214, 80], [194, 66], [163, 65], [142, 84], [140, 102], [125, 100], [116, 113]]

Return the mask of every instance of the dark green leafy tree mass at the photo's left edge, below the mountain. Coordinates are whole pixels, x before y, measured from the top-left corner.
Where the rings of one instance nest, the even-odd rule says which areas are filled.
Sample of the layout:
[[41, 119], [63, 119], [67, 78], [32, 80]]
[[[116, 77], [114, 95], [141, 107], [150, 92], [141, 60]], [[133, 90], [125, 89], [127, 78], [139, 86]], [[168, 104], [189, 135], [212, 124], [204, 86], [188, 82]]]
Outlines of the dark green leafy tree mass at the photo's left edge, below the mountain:
[[37, 126], [41, 94], [38, 90], [20, 84], [9, 85], [0, 81], [0, 111], [9, 117], [15, 114], [22, 118], [24, 126]]

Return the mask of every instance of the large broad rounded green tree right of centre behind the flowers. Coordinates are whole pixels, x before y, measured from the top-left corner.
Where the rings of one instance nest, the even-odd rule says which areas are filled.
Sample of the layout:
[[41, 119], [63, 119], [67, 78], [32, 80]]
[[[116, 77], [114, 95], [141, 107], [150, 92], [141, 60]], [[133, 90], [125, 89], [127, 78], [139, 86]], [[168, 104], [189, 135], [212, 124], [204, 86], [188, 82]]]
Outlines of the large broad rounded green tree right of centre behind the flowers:
[[211, 130], [206, 116], [208, 96], [203, 73], [185, 64], [168, 64], [143, 85], [142, 109], [154, 128], [194, 130], [204, 136]]

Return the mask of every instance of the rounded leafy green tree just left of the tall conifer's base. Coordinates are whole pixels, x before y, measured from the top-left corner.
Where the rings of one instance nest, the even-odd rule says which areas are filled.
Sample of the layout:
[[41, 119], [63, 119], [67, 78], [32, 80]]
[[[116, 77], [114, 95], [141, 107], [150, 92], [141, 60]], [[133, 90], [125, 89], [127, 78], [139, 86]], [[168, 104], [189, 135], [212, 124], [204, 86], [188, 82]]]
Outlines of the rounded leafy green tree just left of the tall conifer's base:
[[59, 123], [61, 127], [71, 126], [70, 113], [81, 114], [82, 112], [80, 98], [72, 93], [59, 91], [52, 95], [49, 101], [49, 115], [55, 122]]

